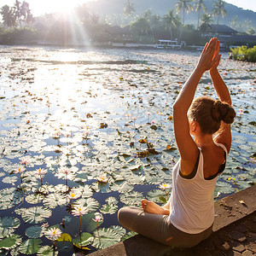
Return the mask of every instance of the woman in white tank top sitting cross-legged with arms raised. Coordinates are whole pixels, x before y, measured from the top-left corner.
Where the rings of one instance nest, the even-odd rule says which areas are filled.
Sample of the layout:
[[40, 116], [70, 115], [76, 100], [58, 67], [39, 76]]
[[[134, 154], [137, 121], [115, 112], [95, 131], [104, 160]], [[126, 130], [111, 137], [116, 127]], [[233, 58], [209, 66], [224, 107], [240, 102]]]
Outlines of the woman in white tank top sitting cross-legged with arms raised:
[[[230, 152], [230, 124], [236, 116], [230, 107], [229, 90], [218, 73], [221, 56], [218, 50], [219, 42], [212, 38], [173, 105], [180, 160], [172, 171], [169, 201], [160, 207], [144, 199], [143, 210], [137, 207], [119, 210], [119, 223], [126, 229], [169, 246], [193, 247], [212, 233], [213, 191]], [[210, 72], [219, 100], [203, 96], [193, 101], [206, 71]]]

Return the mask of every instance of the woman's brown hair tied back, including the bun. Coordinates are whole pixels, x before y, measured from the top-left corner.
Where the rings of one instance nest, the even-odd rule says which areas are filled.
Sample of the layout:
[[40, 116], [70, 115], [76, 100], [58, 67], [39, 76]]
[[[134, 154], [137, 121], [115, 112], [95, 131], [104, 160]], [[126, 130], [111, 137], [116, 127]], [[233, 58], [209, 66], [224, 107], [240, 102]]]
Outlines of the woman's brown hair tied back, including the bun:
[[221, 120], [226, 124], [232, 124], [235, 117], [236, 112], [228, 103], [214, 101], [207, 96], [195, 98], [189, 108], [189, 118], [200, 125], [204, 134], [218, 131]]

